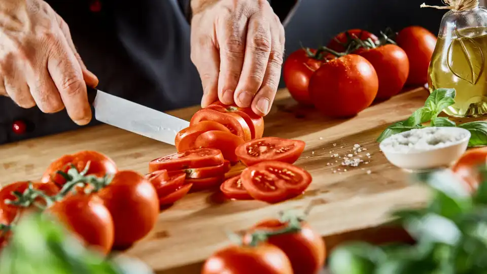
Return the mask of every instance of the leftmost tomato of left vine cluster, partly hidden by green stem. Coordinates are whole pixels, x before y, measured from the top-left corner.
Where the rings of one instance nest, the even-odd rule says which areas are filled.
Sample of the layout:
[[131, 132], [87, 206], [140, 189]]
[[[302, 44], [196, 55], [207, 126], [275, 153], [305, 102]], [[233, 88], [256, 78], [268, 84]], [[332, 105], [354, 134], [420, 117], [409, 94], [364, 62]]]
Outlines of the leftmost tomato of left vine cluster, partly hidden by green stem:
[[[24, 209], [17, 207], [16, 205], [7, 204], [6, 200], [15, 201], [17, 198], [15, 195], [12, 194], [13, 191], [17, 191], [23, 193], [29, 186], [29, 182], [15, 182], [10, 185], [6, 185], [4, 188], [0, 189], [0, 210], [3, 210], [4, 218], [7, 220], [8, 223], [11, 223], [15, 216]], [[51, 182], [48, 183], [32, 183], [34, 189], [44, 191], [46, 195], [52, 196], [56, 195], [59, 192], [59, 188]], [[36, 199], [36, 202], [39, 202], [42, 205], [46, 205], [45, 201], [42, 198]], [[34, 207], [32, 205], [31, 207]]]

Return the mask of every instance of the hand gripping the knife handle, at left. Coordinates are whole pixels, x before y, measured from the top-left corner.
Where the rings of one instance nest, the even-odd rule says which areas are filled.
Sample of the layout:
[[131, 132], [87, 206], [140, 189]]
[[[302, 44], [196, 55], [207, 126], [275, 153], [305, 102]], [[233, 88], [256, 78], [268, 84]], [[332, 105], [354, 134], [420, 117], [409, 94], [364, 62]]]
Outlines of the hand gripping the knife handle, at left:
[[66, 108], [79, 125], [91, 120], [89, 72], [64, 20], [42, 0], [0, 0], [0, 95], [44, 113]]

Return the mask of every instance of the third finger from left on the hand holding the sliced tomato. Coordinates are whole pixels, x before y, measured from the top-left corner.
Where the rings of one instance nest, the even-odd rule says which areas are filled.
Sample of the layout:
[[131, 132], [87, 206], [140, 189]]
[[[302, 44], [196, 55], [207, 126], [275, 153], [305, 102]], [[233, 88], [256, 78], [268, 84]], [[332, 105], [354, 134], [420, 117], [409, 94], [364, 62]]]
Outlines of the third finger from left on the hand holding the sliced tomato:
[[262, 85], [269, 60], [270, 47], [269, 23], [264, 17], [254, 14], [249, 20], [245, 59], [234, 94], [237, 106], [241, 108], [250, 107], [254, 95]]

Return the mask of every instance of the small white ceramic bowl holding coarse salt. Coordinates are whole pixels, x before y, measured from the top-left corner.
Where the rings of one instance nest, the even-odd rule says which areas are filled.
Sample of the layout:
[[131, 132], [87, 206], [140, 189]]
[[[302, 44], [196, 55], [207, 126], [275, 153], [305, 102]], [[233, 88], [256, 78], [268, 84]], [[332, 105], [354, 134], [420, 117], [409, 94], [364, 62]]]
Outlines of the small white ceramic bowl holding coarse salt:
[[[434, 148], [426, 151], [398, 152], [393, 148], [384, 146], [384, 141], [380, 143], [380, 150], [386, 158], [395, 166], [408, 170], [425, 170], [439, 167], [448, 167], [453, 164], [467, 150], [470, 132], [460, 127], [441, 127], [456, 133], [464, 133], [465, 137], [451, 145]], [[408, 131], [398, 133], [405, 134]], [[390, 137], [389, 137], [390, 138]], [[388, 138], [388, 139], [389, 139]]]

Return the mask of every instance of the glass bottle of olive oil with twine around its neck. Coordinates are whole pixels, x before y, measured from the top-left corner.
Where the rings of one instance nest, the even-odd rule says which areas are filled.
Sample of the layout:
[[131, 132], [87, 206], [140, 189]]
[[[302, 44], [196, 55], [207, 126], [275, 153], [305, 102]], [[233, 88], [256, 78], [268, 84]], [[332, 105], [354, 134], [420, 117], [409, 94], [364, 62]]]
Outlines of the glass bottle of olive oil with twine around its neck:
[[[460, 1], [461, 3], [462, 1]], [[455, 105], [444, 112], [456, 117], [487, 115], [487, 10], [478, 1], [453, 2], [441, 21], [428, 70], [430, 92], [455, 88]], [[447, 2], [448, 3], [448, 2]], [[473, 3], [473, 4], [472, 4]]]

